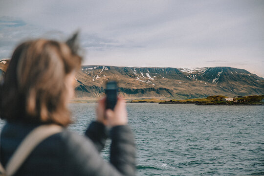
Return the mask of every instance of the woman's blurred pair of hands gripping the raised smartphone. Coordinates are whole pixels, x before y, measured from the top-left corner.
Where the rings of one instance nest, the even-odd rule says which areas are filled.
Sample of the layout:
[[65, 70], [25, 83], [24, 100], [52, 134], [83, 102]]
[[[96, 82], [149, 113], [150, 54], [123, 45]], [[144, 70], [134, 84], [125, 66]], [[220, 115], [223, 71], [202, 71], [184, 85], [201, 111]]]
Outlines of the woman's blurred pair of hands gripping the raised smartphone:
[[127, 125], [128, 115], [126, 110], [126, 102], [124, 99], [118, 97], [114, 110], [106, 110], [106, 98], [98, 102], [96, 110], [97, 121], [106, 126], [114, 127], [118, 125]]

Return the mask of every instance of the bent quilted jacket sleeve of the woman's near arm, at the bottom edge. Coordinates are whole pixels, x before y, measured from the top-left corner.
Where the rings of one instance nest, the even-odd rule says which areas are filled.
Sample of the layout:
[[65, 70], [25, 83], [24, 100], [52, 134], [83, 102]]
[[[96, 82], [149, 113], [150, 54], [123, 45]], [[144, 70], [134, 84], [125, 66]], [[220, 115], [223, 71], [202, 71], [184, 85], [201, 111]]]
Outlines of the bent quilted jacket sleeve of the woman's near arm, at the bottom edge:
[[65, 135], [68, 148], [66, 157], [70, 160], [66, 167], [68, 174], [134, 176], [135, 145], [131, 129], [128, 126], [113, 127], [111, 136], [110, 163], [108, 163], [100, 156], [88, 138], [68, 132]]

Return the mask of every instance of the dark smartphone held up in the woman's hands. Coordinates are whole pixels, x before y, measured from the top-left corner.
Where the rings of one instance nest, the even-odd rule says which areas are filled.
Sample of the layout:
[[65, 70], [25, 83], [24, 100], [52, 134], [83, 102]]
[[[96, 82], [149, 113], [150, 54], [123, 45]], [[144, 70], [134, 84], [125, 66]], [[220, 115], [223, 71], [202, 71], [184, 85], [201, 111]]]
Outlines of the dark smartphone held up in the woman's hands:
[[106, 84], [106, 109], [113, 110], [117, 102], [117, 82], [110, 81]]

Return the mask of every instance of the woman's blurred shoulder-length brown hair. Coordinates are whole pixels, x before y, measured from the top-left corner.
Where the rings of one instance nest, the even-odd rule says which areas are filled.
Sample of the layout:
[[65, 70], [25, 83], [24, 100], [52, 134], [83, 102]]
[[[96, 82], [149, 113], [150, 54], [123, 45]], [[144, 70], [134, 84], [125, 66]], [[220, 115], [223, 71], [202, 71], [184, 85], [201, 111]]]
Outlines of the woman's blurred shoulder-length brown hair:
[[0, 88], [1, 118], [68, 125], [66, 76], [79, 69], [81, 60], [66, 43], [38, 39], [20, 44]]

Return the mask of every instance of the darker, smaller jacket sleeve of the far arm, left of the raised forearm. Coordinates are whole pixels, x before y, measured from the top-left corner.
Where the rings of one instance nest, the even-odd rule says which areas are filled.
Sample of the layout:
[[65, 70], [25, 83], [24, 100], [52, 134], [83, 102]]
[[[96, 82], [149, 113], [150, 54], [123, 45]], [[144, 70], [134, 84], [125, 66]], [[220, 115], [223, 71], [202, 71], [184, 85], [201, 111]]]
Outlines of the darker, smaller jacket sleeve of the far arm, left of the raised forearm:
[[108, 137], [104, 124], [93, 121], [86, 130], [85, 135], [91, 139], [98, 152], [104, 149]]

